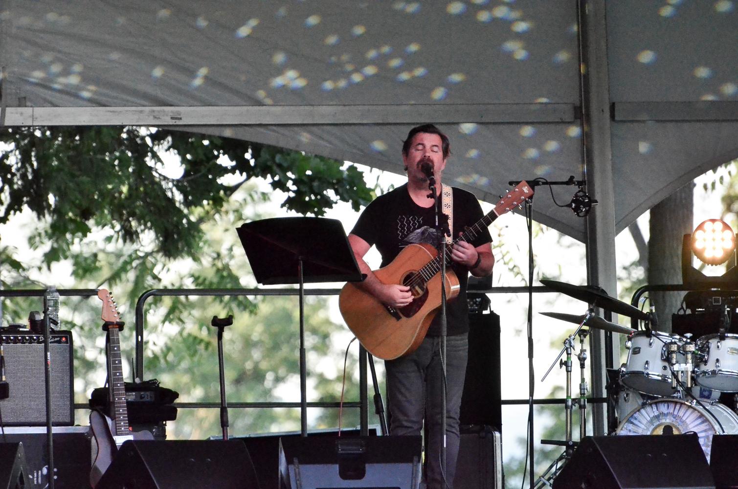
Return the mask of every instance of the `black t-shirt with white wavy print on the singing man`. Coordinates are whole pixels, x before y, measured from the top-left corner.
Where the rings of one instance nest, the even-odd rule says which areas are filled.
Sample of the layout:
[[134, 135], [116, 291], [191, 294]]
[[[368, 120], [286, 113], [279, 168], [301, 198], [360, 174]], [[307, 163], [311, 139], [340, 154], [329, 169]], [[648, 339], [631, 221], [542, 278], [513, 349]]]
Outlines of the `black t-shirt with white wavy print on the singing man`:
[[[483, 217], [482, 208], [477, 198], [466, 190], [453, 189], [453, 226], [452, 235], [458, 237], [466, 226], [473, 226]], [[438, 199], [439, 205], [441, 199]], [[407, 184], [391, 192], [380, 195], [364, 209], [359, 221], [351, 230], [351, 234], [361, 237], [370, 246], [375, 245], [382, 255], [382, 266], [387, 266], [401, 250], [410, 243], [429, 243], [438, 246], [440, 233], [435, 228], [433, 207], [420, 207], [407, 192]], [[492, 242], [489, 230], [481, 226], [472, 246], [481, 246]], [[466, 303], [466, 283], [469, 280], [469, 269], [451, 260], [451, 266], [459, 280], [460, 291], [456, 299], [446, 305], [446, 333], [449, 336], [469, 331], [469, 306]], [[441, 325], [437, 315], [428, 328], [429, 336], [441, 334]]]

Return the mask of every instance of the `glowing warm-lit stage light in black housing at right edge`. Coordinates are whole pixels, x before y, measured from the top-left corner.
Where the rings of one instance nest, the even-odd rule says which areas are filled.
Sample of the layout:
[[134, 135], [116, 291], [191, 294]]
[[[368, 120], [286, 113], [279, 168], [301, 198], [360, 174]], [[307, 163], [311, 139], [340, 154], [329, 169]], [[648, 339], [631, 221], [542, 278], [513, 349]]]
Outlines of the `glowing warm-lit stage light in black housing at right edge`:
[[[720, 276], [708, 276], [692, 266], [692, 254], [707, 265], [727, 263], [727, 270]], [[692, 287], [737, 288], [738, 267], [736, 237], [731, 226], [720, 219], [708, 219], [700, 223], [691, 235], [682, 240], [682, 282]]]

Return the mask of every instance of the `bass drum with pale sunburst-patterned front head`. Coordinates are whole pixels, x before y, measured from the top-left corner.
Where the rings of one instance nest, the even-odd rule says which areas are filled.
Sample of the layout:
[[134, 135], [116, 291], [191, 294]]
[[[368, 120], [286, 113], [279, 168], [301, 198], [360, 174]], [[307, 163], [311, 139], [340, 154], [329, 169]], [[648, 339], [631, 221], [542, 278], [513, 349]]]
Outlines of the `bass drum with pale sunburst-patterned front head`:
[[679, 399], [660, 399], [632, 412], [615, 434], [683, 434], [694, 431], [710, 461], [712, 435], [738, 434], [738, 416], [723, 404], [705, 408]]

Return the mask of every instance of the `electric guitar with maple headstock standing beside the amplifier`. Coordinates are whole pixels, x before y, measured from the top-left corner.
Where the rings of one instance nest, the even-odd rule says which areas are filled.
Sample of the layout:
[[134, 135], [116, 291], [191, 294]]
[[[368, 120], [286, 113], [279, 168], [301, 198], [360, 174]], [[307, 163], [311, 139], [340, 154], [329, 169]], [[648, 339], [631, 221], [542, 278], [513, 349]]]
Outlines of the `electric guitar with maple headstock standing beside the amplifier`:
[[97, 443], [97, 457], [90, 471], [90, 485], [97, 486], [100, 478], [113, 461], [113, 457], [125, 440], [154, 440], [149, 431], [134, 431], [128, 426], [128, 408], [125, 405], [125, 381], [123, 381], [123, 364], [120, 357], [119, 330], [123, 327], [113, 296], [101, 288], [97, 296], [103, 301], [102, 318], [108, 330], [106, 357], [108, 362], [108, 399], [111, 400], [110, 416], [99, 411], [90, 413], [92, 437]]

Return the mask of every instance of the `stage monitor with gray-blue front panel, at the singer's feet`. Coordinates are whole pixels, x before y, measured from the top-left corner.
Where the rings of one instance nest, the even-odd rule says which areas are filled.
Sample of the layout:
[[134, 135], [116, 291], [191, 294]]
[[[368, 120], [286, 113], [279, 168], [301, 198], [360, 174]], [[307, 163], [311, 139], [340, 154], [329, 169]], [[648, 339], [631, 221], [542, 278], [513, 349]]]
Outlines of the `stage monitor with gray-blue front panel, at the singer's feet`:
[[280, 439], [280, 489], [417, 489], [420, 436]]

